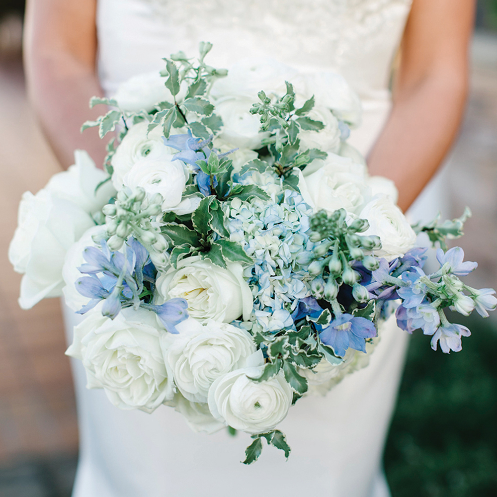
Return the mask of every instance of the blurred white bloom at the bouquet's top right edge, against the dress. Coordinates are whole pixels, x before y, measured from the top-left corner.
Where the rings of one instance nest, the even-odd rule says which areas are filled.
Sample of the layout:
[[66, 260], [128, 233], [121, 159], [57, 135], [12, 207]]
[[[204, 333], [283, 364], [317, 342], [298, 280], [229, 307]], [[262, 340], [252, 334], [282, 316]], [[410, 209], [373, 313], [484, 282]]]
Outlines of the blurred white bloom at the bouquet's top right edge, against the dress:
[[358, 126], [361, 122], [361, 101], [340, 75], [330, 72], [305, 75], [306, 93], [314, 95], [316, 105], [331, 109], [342, 121]]

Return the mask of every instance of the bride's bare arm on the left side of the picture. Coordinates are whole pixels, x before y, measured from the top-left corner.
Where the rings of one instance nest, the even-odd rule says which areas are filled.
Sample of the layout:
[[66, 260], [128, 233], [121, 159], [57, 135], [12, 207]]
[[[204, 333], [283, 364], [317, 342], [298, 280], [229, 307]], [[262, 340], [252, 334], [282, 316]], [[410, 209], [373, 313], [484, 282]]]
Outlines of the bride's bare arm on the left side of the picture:
[[57, 159], [64, 168], [74, 150], [86, 150], [102, 166], [105, 144], [94, 129], [83, 134], [98, 109], [88, 101], [102, 91], [95, 73], [96, 0], [28, 0], [25, 69], [29, 97]]

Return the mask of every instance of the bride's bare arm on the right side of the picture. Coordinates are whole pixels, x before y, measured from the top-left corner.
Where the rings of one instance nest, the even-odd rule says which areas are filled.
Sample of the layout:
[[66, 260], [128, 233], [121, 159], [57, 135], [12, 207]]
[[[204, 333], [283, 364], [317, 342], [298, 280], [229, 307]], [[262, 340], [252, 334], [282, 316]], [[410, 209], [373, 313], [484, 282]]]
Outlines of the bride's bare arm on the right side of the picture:
[[414, 0], [387, 124], [368, 157], [371, 174], [393, 179], [406, 210], [442, 162], [468, 89], [474, 0]]

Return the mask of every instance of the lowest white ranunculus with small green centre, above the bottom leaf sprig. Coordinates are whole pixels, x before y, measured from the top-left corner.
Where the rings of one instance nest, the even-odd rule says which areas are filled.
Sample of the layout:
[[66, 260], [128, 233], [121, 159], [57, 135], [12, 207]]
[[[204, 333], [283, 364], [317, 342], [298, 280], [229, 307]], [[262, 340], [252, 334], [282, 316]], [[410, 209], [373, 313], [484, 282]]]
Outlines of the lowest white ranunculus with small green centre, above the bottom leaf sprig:
[[286, 417], [293, 392], [283, 373], [267, 381], [250, 380], [261, 375], [263, 362], [258, 350], [247, 367], [227, 373], [212, 384], [209, 409], [216, 419], [247, 433], [264, 433]]

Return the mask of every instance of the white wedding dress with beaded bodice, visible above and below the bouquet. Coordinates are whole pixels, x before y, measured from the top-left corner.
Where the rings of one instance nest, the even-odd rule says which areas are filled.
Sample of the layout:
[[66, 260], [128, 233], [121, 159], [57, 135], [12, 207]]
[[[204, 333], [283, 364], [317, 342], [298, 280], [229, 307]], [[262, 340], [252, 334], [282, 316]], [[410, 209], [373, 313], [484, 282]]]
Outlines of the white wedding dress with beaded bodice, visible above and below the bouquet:
[[[342, 74], [359, 93], [363, 124], [350, 143], [367, 153], [390, 109], [392, 59], [410, 0], [98, 0], [99, 74], [106, 93], [131, 76], [162, 69], [162, 57], [196, 54], [226, 67], [270, 56], [306, 71]], [[68, 339], [77, 321], [65, 309]], [[279, 428], [288, 461], [264, 447], [240, 463], [250, 438], [194, 433], [171, 408], [120, 411], [103, 390], [87, 390], [74, 361], [80, 463], [74, 497], [387, 497], [381, 458], [401, 376], [407, 334], [390, 320], [364, 369], [326, 397], [307, 397]]]

